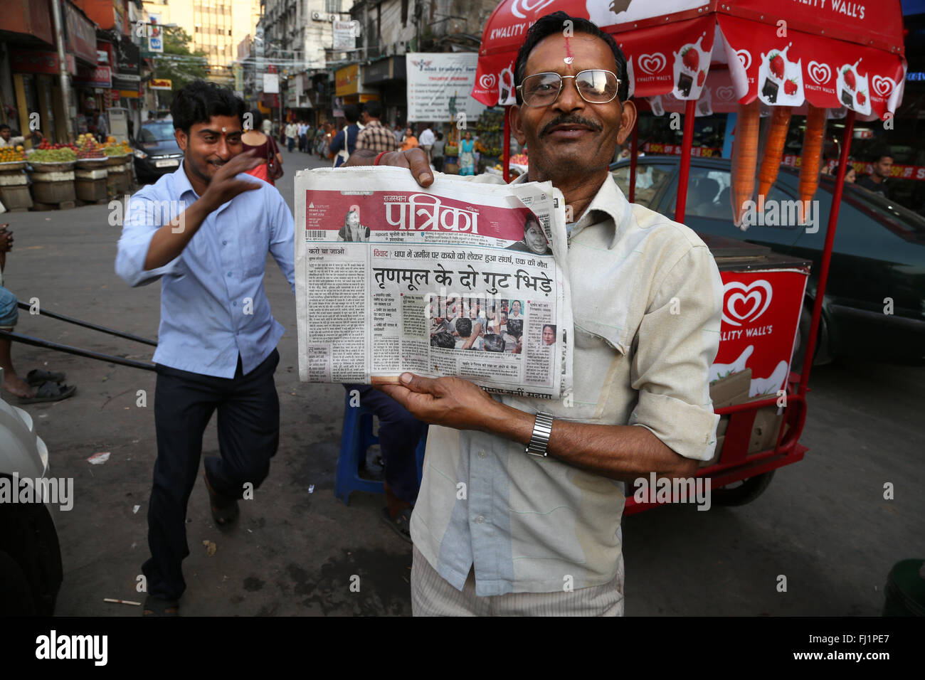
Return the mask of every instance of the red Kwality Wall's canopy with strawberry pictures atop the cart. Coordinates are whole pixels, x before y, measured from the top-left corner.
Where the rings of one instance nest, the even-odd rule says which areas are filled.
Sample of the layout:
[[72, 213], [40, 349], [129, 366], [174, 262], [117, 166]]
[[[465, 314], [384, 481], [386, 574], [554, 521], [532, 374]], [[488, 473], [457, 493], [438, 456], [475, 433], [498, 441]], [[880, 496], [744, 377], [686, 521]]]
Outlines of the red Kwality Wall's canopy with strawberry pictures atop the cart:
[[808, 101], [846, 106], [870, 119], [890, 117], [902, 101], [906, 62], [897, 0], [877, 6], [845, 0], [503, 0], [482, 33], [475, 99], [513, 104], [513, 65], [526, 32], [559, 10], [613, 35], [627, 57], [631, 96], [701, 99], [709, 86], [722, 110], [729, 86], [709, 84], [712, 61], [728, 64], [736, 103], [756, 97], [765, 105]]

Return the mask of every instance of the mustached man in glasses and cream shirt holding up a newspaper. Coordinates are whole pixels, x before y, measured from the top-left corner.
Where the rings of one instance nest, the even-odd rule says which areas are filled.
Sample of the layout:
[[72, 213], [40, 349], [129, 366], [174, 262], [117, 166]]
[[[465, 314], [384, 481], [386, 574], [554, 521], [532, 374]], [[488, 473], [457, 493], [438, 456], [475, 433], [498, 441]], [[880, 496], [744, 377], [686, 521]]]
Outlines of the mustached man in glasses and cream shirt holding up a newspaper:
[[[468, 380], [410, 373], [381, 388], [437, 426], [411, 524], [413, 611], [622, 615], [618, 480], [693, 476], [712, 456], [722, 282], [691, 229], [629, 204], [611, 178], [635, 107], [609, 35], [562, 12], [539, 19], [514, 81], [528, 179], [551, 180], [574, 217], [563, 253], [573, 401], [492, 397]], [[419, 149], [358, 151], [349, 165], [374, 160], [434, 181]]]

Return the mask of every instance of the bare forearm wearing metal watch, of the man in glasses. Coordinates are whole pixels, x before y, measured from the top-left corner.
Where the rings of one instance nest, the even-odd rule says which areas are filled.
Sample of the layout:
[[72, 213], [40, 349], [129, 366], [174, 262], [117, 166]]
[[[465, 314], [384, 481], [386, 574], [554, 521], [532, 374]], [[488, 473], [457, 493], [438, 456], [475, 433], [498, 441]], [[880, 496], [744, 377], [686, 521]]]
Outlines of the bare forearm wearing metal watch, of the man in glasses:
[[[534, 414], [501, 403], [499, 407], [487, 416], [486, 431], [518, 441], [525, 448], [533, 435]], [[627, 482], [653, 471], [666, 477], [693, 476], [697, 472], [697, 461], [678, 455], [646, 427], [557, 419], [552, 424], [547, 451], [562, 463]]]

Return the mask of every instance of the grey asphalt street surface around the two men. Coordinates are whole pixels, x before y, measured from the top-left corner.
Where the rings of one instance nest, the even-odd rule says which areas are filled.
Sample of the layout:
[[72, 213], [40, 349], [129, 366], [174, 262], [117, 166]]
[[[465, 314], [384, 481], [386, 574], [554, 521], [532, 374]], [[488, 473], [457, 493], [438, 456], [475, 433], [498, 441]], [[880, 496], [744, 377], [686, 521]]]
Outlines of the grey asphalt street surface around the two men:
[[[295, 170], [327, 161], [284, 158], [278, 188], [291, 206]], [[154, 339], [160, 287], [130, 289], [117, 278], [119, 228], [108, 216], [105, 205], [93, 205], [0, 217], [16, 232], [6, 286], [20, 301], [35, 297], [43, 309]], [[279, 451], [230, 529], [213, 524], [197, 482], [181, 612], [410, 614], [411, 546], [380, 522], [381, 497], [355, 493], [350, 506], [334, 498], [343, 389], [299, 382], [295, 305], [272, 258], [265, 285], [287, 328], [276, 376]], [[25, 311], [17, 330], [142, 362], [152, 354]], [[103, 600], [144, 598], [136, 584], [148, 556], [154, 373], [19, 344], [13, 358], [20, 375], [63, 370], [79, 386], [72, 399], [26, 407], [48, 445], [50, 474], [74, 478], [73, 509], [56, 513], [65, 573], [56, 612], [138, 615], [138, 607]], [[674, 505], [624, 519], [627, 615], [878, 615], [891, 566], [925, 557], [925, 368], [836, 362], [815, 367], [810, 385], [806, 458], [778, 471], [757, 501], [709, 512]], [[111, 454], [105, 464], [88, 463], [102, 451]], [[217, 451], [213, 419], [203, 453]], [[888, 482], [892, 501], [883, 499]]]

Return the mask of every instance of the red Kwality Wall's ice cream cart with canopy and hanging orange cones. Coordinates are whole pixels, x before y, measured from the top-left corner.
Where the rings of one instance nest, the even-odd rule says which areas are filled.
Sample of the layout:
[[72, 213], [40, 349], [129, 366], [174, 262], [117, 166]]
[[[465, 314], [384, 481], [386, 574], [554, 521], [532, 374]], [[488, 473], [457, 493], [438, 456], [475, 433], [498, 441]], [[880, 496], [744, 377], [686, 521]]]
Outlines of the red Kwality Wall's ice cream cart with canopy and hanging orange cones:
[[[889, 120], [902, 101], [906, 74], [902, 9], [883, 0], [874, 11], [852, 3], [776, 3], [765, 0], [550, 0], [525, 8], [503, 0], [482, 34], [472, 96], [504, 105], [502, 172], [510, 179], [515, 104], [511, 74], [529, 26], [562, 10], [590, 19], [610, 33], [626, 56], [629, 98], [656, 116], [680, 113], [684, 142], [674, 218], [685, 220], [694, 118], [736, 113], [730, 214], [747, 229], [766, 209], [765, 199], [782, 162], [792, 117], [806, 116], [795, 228], [808, 223], [817, 195], [822, 144], [829, 121], [842, 119], [843, 142], [814, 297], [806, 290], [808, 263], [756, 250], [741, 241], [707, 240], [720, 269], [723, 308], [719, 352], [710, 369], [714, 411], [722, 416], [713, 460], [697, 473], [709, 476], [713, 499], [741, 504], [767, 487], [774, 471], [802, 460], [799, 443], [807, 417], [806, 395], [835, 227], [857, 117]], [[872, 9], [872, 8], [871, 8]], [[593, 105], [592, 105], [593, 106]], [[763, 122], [762, 122], [763, 119]], [[630, 183], [635, 196], [638, 137], [631, 135]], [[768, 201], [771, 204], [771, 201]], [[773, 208], [773, 205], [770, 206]], [[746, 216], [749, 219], [746, 219]], [[801, 366], [791, 365], [804, 302], [812, 315]], [[627, 498], [625, 513], [653, 503]]]

